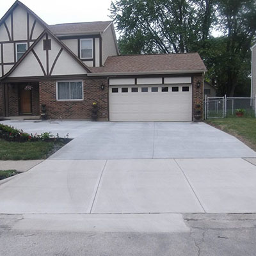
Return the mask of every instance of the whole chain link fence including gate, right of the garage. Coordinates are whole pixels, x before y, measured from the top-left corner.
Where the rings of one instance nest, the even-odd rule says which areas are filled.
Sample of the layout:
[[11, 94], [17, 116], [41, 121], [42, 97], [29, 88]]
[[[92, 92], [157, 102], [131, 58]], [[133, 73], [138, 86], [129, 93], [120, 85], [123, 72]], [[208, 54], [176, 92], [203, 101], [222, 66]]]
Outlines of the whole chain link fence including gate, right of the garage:
[[243, 116], [256, 117], [255, 97], [206, 97], [205, 95], [205, 119], [225, 118], [236, 116], [242, 111]]

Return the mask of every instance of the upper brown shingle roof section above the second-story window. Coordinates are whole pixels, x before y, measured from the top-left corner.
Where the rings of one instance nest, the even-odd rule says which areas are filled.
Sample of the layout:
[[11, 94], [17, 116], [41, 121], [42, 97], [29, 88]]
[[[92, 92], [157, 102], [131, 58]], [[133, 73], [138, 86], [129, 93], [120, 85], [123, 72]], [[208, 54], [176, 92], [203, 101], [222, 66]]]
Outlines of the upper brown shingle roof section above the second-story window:
[[79, 22], [49, 25], [55, 35], [66, 35], [74, 33], [100, 33], [106, 29], [111, 21]]

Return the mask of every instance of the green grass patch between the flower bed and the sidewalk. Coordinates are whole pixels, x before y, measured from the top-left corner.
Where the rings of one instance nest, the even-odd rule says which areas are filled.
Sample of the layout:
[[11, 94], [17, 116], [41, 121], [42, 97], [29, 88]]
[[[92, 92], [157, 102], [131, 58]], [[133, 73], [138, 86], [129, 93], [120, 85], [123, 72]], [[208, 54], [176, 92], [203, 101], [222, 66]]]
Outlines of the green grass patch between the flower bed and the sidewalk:
[[45, 159], [63, 145], [60, 142], [28, 141], [20, 143], [0, 139], [0, 160]]

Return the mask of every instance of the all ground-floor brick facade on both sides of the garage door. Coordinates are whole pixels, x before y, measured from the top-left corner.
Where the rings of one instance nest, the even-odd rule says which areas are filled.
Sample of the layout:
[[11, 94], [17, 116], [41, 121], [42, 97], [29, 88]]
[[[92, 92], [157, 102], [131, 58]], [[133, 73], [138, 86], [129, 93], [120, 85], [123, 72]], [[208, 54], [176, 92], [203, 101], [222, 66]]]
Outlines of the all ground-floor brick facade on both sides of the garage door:
[[[196, 111], [200, 110], [202, 117], [204, 93], [203, 93], [203, 76], [202, 74], [194, 74], [193, 76], [193, 116]], [[200, 87], [197, 83], [200, 82]], [[104, 90], [100, 85], [104, 84]], [[8, 95], [9, 116], [19, 115], [19, 86], [22, 84], [6, 85], [6, 93]], [[56, 81], [42, 81], [32, 84], [32, 115], [40, 115], [40, 106], [46, 105], [47, 118], [84, 118], [90, 119], [92, 116], [92, 103], [97, 102], [99, 106], [99, 119], [108, 120], [108, 79], [88, 78], [83, 81], [83, 100], [67, 100], [58, 101], [56, 99]], [[4, 116], [3, 104], [3, 86], [0, 86], [0, 116]], [[195, 117], [193, 117], [195, 120]]]

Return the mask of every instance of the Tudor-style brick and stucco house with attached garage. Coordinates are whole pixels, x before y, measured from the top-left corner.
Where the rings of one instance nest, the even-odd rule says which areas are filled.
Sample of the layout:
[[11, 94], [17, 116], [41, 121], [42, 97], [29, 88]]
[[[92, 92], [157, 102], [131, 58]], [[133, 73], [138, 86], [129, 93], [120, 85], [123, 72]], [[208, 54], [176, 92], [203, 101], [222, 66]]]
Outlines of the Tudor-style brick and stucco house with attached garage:
[[0, 116], [191, 121], [202, 109], [197, 53], [120, 56], [113, 22], [47, 25], [20, 1], [0, 20]]

